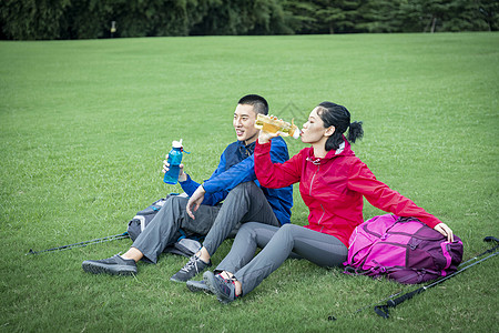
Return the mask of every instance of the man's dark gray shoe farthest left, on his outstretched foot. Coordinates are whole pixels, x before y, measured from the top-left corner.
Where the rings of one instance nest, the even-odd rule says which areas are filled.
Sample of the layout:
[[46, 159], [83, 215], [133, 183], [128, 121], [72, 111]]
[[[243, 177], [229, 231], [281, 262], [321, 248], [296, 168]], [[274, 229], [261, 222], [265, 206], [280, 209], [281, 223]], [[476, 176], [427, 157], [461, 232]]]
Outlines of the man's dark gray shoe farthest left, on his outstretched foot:
[[110, 275], [132, 275], [136, 274], [136, 263], [133, 259], [123, 259], [121, 255], [113, 255], [103, 260], [85, 260], [81, 268], [83, 271], [93, 274]]

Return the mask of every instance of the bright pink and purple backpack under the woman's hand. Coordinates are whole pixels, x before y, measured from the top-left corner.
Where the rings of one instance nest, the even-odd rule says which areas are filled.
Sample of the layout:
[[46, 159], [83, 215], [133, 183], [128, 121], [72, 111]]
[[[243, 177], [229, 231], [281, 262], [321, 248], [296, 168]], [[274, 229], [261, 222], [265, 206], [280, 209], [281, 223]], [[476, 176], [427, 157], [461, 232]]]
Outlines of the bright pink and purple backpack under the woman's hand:
[[386, 214], [354, 230], [345, 273], [421, 283], [456, 272], [462, 250], [456, 235], [450, 243], [417, 219]]

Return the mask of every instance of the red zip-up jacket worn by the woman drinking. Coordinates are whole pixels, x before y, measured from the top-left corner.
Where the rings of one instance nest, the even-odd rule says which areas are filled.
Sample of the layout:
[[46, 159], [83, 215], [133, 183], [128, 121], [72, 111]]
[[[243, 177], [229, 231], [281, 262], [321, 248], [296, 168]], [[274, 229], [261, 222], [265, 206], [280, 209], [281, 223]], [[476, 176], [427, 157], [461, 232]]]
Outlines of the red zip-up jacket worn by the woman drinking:
[[355, 157], [350, 144], [314, 158], [314, 149], [302, 149], [283, 164], [272, 163], [271, 142], [256, 143], [255, 173], [265, 188], [283, 188], [299, 182], [299, 192], [308, 206], [305, 228], [336, 236], [346, 246], [355, 226], [364, 222], [363, 195], [374, 206], [399, 216], [414, 216], [434, 228], [441, 221], [417, 206], [410, 199], [376, 180]]

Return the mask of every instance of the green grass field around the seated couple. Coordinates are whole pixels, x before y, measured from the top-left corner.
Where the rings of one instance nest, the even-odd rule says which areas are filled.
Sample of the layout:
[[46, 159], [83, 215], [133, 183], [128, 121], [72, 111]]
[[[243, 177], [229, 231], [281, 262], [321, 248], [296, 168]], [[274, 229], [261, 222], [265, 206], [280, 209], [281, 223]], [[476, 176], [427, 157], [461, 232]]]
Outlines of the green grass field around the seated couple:
[[[235, 140], [238, 98], [259, 93], [298, 123], [322, 101], [346, 105], [364, 121], [356, 154], [449, 224], [470, 259], [499, 236], [498, 82], [498, 33], [0, 42], [0, 331], [497, 332], [497, 258], [383, 320], [354, 312], [415, 286], [288, 260], [224, 306], [169, 281], [180, 256], [140, 264], [135, 278], [82, 271], [130, 240], [26, 253], [122, 233], [180, 191], [160, 172], [173, 140], [192, 152], [187, 173], [207, 179]], [[304, 147], [287, 142], [292, 154]], [[379, 213], [366, 204], [365, 219]], [[292, 221], [306, 218], [295, 186]]]

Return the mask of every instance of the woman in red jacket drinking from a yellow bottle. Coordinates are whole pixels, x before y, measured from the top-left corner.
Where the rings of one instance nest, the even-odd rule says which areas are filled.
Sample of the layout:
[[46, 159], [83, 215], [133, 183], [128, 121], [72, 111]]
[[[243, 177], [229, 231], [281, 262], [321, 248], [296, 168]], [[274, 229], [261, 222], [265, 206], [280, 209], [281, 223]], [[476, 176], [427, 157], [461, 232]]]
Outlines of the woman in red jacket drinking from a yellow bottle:
[[[348, 130], [348, 140], [344, 133]], [[271, 139], [259, 132], [255, 148], [255, 172], [266, 188], [283, 188], [299, 182], [299, 192], [309, 209], [308, 224], [287, 224], [281, 229], [256, 222], [238, 231], [231, 252], [216, 268], [206, 272], [204, 282], [228, 303], [255, 289], [293, 252], [326, 268], [346, 261], [348, 240], [363, 223], [363, 196], [374, 206], [401, 216], [415, 216], [454, 241], [450, 228], [411, 200], [376, 180], [350, 149], [363, 137], [361, 122], [350, 123], [343, 107], [323, 102], [303, 125], [302, 141], [312, 144], [283, 164], [271, 161]], [[263, 250], [253, 258], [256, 246]], [[194, 283], [194, 282], [192, 282]], [[200, 282], [198, 282], [200, 283]], [[196, 290], [196, 287], [191, 287]]]

